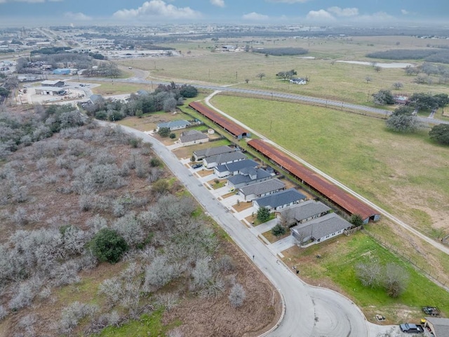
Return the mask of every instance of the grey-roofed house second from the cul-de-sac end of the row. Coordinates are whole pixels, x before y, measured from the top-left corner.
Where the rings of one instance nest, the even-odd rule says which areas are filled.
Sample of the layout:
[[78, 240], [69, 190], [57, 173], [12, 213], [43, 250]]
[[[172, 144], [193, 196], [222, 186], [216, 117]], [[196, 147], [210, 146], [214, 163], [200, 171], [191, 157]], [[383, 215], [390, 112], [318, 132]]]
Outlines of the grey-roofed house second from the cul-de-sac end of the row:
[[300, 225], [312, 219], [319, 218], [330, 212], [330, 207], [321, 201], [307, 200], [281, 212], [281, 216], [288, 220], [289, 225]]

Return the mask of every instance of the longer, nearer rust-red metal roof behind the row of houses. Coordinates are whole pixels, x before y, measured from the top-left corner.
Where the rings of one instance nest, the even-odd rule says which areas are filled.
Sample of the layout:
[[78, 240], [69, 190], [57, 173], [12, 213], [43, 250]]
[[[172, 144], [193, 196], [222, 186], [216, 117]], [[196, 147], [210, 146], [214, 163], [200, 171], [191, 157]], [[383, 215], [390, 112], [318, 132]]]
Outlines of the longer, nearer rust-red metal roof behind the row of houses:
[[356, 197], [353, 197], [351, 194], [344, 192], [344, 190], [341, 190], [337, 185], [333, 185], [333, 183], [330, 183], [317, 173], [314, 173], [314, 171], [311, 171], [297, 161], [294, 161], [280, 150], [272, 147], [272, 145], [264, 143], [259, 139], [249, 140], [248, 145], [254, 147], [257, 151], [262, 152], [262, 154], [269, 157], [269, 159], [272, 159], [272, 161], [283, 169], [286, 169], [297, 178], [303, 180], [304, 183], [307, 183], [307, 185], [328, 197], [328, 199], [342, 207], [342, 209], [348, 211], [350, 214], [359, 214], [363, 220], [374, 215], [379, 215], [379, 212], [375, 211], [367, 204], [356, 199]]

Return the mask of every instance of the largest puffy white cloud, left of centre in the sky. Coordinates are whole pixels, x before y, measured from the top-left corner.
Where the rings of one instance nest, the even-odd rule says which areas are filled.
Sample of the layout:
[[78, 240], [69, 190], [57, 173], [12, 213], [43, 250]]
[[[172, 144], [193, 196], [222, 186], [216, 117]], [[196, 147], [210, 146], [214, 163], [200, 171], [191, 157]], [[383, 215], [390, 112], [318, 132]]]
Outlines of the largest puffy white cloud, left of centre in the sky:
[[194, 19], [199, 18], [201, 13], [194, 11], [190, 7], [176, 7], [170, 4], [166, 4], [162, 0], [145, 1], [142, 6], [137, 9], [121, 9], [114, 13], [116, 19], [135, 19], [145, 18], [148, 16], [156, 18], [168, 18], [168, 19]]

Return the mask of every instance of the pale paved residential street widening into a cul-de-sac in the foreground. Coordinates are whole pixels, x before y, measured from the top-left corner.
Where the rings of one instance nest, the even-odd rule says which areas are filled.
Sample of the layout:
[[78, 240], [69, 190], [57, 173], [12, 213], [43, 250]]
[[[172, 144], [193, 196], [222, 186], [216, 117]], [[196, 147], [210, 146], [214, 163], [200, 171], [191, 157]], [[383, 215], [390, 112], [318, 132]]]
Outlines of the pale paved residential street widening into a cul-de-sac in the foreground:
[[[166, 163], [175, 176], [187, 187], [208, 214], [223, 227], [234, 242], [250, 258], [264, 275], [283, 294], [286, 312], [277, 329], [267, 334], [272, 337], [365, 337], [375, 336], [370, 331], [374, 324], [368, 324], [363, 313], [351, 300], [329, 289], [309, 286], [283, 265], [253, 233], [232, 213], [217, 201], [199, 180], [183, 166], [179, 159], [164, 145], [145, 133], [122, 126], [127, 132], [153, 144], [156, 154]], [[375, 331], [384, 331], [375, 326]]]

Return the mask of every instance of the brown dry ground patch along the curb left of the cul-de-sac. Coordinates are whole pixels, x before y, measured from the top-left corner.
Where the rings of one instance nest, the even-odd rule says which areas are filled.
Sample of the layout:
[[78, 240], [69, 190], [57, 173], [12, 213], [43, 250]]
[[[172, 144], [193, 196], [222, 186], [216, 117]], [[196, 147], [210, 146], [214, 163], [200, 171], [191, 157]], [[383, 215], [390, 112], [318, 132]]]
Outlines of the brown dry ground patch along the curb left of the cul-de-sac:
[[180, 319], [184, 336], [258, 336], [279, 319], [281, 303], [273, 286], [236, 246], [227, 244], [225, 250], [236, 262], [236, 282], [246, 289], [243, 306], [233, 308], [227, 294], [218, 300], [197, 298], [181, 303], [164, 320]]

